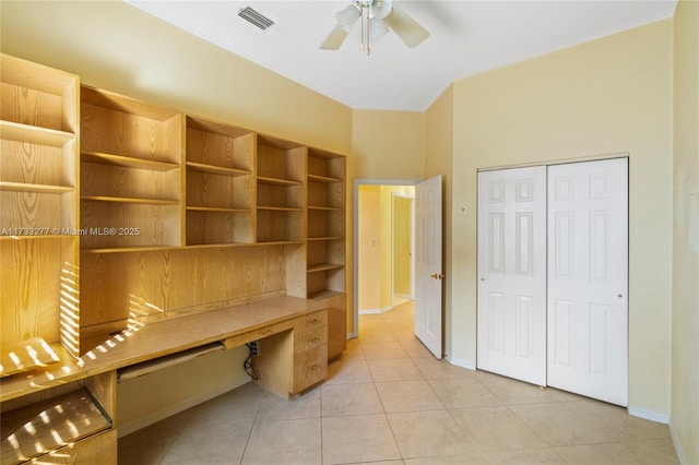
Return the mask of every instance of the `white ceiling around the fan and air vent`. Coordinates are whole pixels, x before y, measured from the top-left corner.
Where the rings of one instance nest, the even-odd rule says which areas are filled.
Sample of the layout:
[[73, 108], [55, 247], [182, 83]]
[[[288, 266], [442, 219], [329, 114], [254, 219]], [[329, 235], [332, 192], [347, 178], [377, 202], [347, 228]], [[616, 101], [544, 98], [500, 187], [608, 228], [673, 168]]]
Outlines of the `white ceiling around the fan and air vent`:
[[[394, 0], [429, 38], [411, 49], [391, 32], [366, 56], [359, 23], [339, 50], [319, 48], [348, 0], [126, 1], [352, 108], [416, 111], [455, 80], [670, 17], [677, 3]], [[247, 23], [244, 5], [275, 25]]]

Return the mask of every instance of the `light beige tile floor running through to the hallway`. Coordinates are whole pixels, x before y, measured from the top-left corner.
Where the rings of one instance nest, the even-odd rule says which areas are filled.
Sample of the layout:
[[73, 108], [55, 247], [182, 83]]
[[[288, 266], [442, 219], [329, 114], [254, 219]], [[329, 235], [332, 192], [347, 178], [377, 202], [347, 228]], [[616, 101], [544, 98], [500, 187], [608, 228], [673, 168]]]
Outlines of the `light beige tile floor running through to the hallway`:
[[677, 464], [666, 425], [435, 359], [412, 302], [362, 315], [322, 385], [248, 383], [119, 440], [119, 464]]

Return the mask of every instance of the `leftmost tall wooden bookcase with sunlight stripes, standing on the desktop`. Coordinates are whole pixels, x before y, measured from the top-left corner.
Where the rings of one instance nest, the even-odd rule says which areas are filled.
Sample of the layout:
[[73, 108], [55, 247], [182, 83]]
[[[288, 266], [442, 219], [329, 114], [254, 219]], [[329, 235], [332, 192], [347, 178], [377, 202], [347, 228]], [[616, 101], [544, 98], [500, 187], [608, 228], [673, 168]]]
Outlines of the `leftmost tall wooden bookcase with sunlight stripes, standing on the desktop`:
[[[80, 312], [75, 236], [80, 80], [7, 55], [0, 60], [0, 374], [4, 377], [50, 362], [64, 350], [79, 351], [74, 327]], [[39, 359], [13, 351], [13, 346], [29, 346]]]

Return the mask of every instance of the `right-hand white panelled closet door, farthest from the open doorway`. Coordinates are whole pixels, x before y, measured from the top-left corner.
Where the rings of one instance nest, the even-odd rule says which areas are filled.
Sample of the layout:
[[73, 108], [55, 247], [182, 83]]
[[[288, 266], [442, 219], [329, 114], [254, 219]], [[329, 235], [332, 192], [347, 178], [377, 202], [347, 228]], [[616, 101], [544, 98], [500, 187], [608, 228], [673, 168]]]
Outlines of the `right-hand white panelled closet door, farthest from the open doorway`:
[[628, 404], [628, 160], [548, 168], [548, 384]]

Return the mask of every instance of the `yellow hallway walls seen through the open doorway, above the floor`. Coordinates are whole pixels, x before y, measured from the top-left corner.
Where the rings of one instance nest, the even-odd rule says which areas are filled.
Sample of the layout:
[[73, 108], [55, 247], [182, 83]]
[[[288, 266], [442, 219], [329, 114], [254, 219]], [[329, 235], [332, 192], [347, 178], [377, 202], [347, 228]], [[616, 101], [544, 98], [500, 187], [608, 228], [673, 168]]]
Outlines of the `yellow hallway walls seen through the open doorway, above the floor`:
[[383, 314], [414, 299], [417, 182], [355, 180], [354, 336], [360, 314]]

